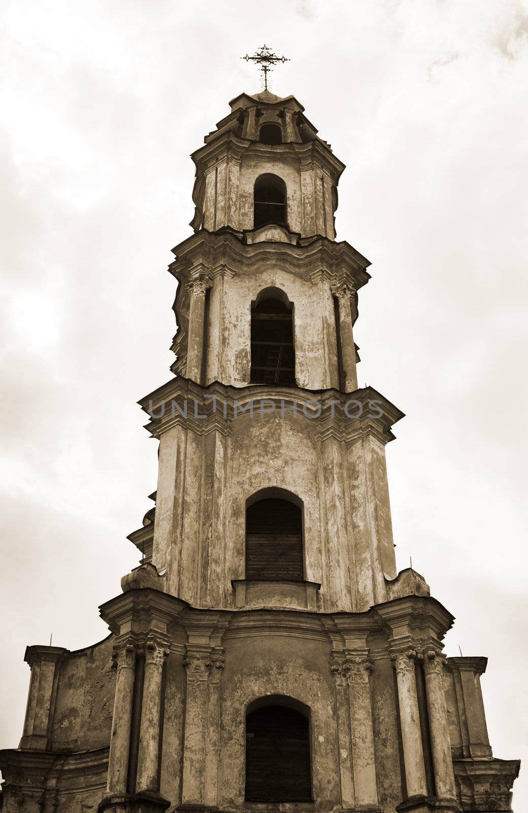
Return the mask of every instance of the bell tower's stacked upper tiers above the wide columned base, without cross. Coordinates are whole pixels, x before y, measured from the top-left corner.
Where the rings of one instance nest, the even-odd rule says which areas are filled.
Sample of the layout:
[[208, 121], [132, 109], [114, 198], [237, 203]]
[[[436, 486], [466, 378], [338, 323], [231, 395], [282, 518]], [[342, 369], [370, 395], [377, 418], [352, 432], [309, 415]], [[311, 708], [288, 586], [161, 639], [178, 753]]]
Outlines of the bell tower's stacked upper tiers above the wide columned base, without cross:
[[[177, 377], [141, 401], [160, 441], [152, 563], [193, 606], [366, 611], [396, 577], [384, 447], [402, 414], [357, 389], [370, 263], [335, 241], [344, 165], [292, 96], [231, 107], [193, 154], [195, 233], [170, 267]], [[303, 516], [303, 578], [280, 588], [245, 574], [248, 506], [276, 489]]]

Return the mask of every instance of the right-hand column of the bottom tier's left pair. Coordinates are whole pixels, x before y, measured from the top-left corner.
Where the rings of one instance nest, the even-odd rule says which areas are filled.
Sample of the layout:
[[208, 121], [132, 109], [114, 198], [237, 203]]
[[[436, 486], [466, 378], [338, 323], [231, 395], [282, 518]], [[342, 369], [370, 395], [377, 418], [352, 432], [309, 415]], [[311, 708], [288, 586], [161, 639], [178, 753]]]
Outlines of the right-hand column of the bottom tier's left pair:
[[162, 641], [145, 643], [145, 680], [141, 700], [140, 743], [137, 753], [136, 792], [158, 790], [159, 718], [163, 663], [170, 650]]

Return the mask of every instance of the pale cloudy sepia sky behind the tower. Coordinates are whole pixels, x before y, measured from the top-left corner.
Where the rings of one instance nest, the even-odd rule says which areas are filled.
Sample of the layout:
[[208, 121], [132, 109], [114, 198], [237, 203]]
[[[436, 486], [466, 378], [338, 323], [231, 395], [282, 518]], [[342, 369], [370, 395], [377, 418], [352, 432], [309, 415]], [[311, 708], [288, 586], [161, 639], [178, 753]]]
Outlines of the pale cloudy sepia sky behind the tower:
[[[360, 384], [407, 417], [387, 448], [398, 566], [486, 654], [494, 754], [528, 759], [526, 158], [522, 0], [13, 0], [2, 5], [0, 747], [26, 644], [106, 636], [156, 486], [136, 401], [170, 377], [170, 249], [239, 59], [266, 41], [347, 164], [338, 238], [373, 263]], [[516, 811], [528, 807], [526, 767]]]

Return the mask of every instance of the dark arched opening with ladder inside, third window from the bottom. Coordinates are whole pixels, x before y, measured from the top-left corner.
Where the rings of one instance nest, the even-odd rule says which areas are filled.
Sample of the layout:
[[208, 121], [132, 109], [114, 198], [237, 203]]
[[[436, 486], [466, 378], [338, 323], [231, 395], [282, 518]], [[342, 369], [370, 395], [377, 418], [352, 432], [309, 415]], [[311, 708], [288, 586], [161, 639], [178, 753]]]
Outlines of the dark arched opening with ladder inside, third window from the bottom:
[[251, 307], [253, 384], [295, 384], [292, 304], [283, 291], [265, 289]]

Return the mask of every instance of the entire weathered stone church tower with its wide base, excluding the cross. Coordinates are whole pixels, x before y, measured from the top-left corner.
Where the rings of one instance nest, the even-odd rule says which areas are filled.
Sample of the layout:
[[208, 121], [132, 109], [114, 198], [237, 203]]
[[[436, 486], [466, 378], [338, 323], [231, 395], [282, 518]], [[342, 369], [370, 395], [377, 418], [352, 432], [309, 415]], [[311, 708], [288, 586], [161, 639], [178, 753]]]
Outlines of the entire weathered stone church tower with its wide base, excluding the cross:
[[481, 657], [396, 572], [385, 445], [357, 388], [369, 266], [335, 240], [344, 164], [296, 98], [242, 93], [193, 154], [175, 374], [141, 401], [141, 565], [84, 650], [29, 646], [3, 811], [509, 811]]

